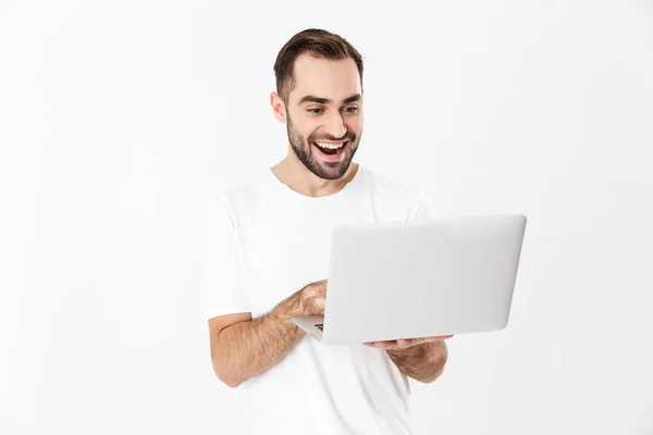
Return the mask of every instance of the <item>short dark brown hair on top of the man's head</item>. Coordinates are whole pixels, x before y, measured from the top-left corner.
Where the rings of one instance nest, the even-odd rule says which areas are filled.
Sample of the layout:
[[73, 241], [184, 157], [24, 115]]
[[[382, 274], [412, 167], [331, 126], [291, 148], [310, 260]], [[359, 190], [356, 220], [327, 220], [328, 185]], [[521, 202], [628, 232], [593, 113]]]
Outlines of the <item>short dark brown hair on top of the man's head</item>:
[[279, 51], [274, 62], [276, 94], [287, 104], [288, 96], [295, 86], [295, 60], [305, 52], [316, 58], [341, 60], [352, 58], [358, 67], [362, 86], [362, 57], [340, 35], [320, 28], [307, 28], [294, 35]]

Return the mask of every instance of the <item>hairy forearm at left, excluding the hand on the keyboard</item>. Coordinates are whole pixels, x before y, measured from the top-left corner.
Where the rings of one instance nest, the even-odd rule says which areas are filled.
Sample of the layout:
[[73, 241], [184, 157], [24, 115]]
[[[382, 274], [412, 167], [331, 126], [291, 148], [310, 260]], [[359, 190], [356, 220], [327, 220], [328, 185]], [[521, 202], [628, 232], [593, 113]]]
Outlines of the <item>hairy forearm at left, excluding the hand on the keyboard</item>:
[[283, 307], [226, 327], [217, 344], [218, 363], [227, 385], [235, 387], [278, 364], [304, 337]]

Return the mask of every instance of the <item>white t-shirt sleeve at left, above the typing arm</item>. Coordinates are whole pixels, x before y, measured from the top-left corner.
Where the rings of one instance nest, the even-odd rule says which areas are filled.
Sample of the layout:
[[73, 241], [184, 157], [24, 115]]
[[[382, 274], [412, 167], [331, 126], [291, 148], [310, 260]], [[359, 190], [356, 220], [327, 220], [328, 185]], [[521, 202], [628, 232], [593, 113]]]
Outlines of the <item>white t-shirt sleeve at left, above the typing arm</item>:
[[246, 275], [234, 213], [229, 197], [222, 192], [211, 203], [206, 232], [207, 316], [250, 312]]

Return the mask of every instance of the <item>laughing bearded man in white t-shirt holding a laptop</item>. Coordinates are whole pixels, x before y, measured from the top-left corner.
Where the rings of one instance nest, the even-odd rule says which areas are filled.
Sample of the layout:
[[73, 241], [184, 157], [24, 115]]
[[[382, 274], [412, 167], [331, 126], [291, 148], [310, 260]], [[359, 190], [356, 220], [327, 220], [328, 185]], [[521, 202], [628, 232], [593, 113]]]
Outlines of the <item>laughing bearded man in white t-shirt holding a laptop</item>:
[[362, 60], [345, 39], [300, 32], [274, 72], [271, 105], [287, 126], [287, 157], [211, 208], [213, 369], [238, 387], [243, 433], [409, 434], [408, 376], [440, 376], [451, 336], [326, 346], [291, 319], [323, 313], [335, 225], [431, 219], [433, 208], [421, 190], [353, 162], [362, 135]]

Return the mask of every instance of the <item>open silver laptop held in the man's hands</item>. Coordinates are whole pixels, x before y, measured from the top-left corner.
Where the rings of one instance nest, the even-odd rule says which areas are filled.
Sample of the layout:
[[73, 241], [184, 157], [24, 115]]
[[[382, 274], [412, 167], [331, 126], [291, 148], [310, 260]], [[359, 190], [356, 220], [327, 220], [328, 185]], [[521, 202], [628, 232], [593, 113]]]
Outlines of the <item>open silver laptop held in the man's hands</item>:
[[508, 323], [526, 216], [346, 224], [333, 229], [321, 343], [480, 333]]

